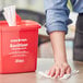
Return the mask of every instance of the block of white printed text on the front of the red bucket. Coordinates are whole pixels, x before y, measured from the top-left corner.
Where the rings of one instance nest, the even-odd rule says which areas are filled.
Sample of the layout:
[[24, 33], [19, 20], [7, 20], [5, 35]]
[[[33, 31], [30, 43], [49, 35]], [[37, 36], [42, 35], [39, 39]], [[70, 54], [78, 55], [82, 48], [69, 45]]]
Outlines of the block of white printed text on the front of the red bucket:
[[[11, 57], [26, 57], [28, 54], [27, 51], [28, 43], [26, 38], [20, 39], [11, 39], [10, 40], [10, 49], [11, 51], [9, 55]], [[23, 60], [15, 60], [15, 62], [23, 62]]]

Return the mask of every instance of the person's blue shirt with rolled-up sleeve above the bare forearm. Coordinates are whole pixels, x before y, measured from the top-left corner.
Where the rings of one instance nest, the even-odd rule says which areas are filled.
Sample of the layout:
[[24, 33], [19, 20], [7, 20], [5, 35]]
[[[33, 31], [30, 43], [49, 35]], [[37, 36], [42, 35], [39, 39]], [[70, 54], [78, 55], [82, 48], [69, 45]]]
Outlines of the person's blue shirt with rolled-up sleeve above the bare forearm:
[[[68, 33], [70, 10], [68, 0], [45, 0], [47, 32], [64, 31]], [[83, 13], [83, 0], [71, 0], [73, 11]]]

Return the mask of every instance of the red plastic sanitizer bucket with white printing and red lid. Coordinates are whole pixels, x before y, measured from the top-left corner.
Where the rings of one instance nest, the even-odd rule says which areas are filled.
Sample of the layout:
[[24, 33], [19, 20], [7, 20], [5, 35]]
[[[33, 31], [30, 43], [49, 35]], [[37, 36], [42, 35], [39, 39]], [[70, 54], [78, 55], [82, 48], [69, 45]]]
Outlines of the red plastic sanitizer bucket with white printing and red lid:
[[0, 73], [36, 70], [39, 27], [28, 20], [21, 21], [17, 26], [0, 21]]

